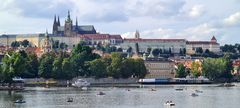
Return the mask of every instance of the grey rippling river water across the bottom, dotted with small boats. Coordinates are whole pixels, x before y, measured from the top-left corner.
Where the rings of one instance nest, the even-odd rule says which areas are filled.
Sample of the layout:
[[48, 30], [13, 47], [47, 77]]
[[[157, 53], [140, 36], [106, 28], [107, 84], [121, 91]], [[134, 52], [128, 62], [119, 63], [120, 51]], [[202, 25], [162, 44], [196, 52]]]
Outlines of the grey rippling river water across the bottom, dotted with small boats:
[[[176, 91], [177, 88], [183, 88], [183, 91]], [[195, 90], [203, 93], [190, 96]], [[100, 91], [105, 95], [97, 95]], [[72, 103], [67, 102], [69, 97], [73, 98]], [[26, 103], [14, 103], [20, 98]], [[166, 108], [164, 102], [167, 100], [176, 104], [174, 108], [240, 108], [240, 85], [136, 85], [90, 87], [88, 90], [29, 87], [22, 92], [0, 91], [0, 108]]]

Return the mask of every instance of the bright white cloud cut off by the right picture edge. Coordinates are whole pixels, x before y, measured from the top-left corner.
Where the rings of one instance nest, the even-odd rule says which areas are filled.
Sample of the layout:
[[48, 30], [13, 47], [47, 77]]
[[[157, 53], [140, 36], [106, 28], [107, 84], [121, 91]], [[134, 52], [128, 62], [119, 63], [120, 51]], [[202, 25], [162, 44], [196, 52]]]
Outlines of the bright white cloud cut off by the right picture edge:
[[227, 26], [240, 25], [240, 12], [230, 15], [228, 18], [224, 19], [224, 23]]

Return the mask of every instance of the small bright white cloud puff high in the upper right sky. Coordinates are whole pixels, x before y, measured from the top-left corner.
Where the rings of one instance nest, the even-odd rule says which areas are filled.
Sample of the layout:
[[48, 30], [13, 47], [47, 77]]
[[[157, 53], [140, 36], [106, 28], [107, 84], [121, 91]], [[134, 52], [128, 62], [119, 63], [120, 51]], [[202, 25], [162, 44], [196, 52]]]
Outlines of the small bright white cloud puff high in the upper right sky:
[[204, 12], [203, 5], [194, 5], [189, 12], [189, 16], [190, 17], [199, 17], [203, 14], [203, 12]]

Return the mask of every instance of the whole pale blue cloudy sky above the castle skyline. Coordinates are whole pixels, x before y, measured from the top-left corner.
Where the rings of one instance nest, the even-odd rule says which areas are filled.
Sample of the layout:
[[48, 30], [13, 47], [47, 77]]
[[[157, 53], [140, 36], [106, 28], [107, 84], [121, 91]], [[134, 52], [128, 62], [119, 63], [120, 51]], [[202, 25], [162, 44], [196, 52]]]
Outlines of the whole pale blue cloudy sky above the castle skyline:
[[61, 25], [70, 10], [79, 25], [100, 33], [141, 38], [240, 42], [240, 0], [1, 0], [0, 34], [52, 31], [54, 15]]

